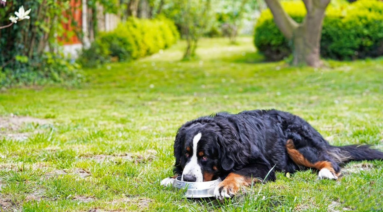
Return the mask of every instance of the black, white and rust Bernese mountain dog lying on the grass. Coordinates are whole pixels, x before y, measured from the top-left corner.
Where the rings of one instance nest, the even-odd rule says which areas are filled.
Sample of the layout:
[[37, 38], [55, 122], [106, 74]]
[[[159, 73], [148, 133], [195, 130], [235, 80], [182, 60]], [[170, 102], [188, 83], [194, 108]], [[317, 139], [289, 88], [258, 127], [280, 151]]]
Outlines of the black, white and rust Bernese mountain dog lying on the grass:
[[320, 179], [337, 179], [342, 163], [383, 159], [368, 145], [331, 146], [305, 120], [278, 110], [220, 112], [191, 120], [177, 131], [174, 156], [175, 176], [162, 185], [177, 176], [189, 182], [221, 177], [214, 190], [219, 200], [233, 197], [242, 186], [275, 180], [275, 171], [311, 168]]

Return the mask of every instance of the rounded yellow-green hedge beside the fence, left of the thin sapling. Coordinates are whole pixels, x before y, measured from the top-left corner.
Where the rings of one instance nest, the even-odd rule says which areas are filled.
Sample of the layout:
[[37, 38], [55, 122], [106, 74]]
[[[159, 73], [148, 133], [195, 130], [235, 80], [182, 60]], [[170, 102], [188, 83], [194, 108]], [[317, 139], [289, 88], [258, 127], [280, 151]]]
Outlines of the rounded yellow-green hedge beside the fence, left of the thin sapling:
[[129, 18], [115, 30], [100, 33], [88, 49], [82, 50], [78, 61], [84, 67], [94, 67], [137, 59], [170, 47], [178, 38], [177, 27], [167, 18]]

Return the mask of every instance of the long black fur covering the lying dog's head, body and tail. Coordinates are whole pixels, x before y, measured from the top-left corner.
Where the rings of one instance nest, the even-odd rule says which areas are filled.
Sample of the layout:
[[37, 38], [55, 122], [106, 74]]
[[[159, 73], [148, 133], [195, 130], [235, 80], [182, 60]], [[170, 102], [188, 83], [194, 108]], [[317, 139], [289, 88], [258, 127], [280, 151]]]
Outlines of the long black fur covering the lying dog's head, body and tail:
[[181, 175], [185, 156], [193, 136], [201, 133], [198, 151], [203, 173], [224, 179], [229, 173], [274, 180], [274, 171], [294, 173], [306, 169], [296, 164], [286, 151], [292, 140], [309, 162], [329, 161], [336, 173], [339, 165], [350, 160], [382, 159], [383, 153], [368, 145], [331, 146], [309, 123], [288, 112], [251, 110], [238, 114], [226, 112], [191, 120], [178, 129], [174, 142], [174, 172]]

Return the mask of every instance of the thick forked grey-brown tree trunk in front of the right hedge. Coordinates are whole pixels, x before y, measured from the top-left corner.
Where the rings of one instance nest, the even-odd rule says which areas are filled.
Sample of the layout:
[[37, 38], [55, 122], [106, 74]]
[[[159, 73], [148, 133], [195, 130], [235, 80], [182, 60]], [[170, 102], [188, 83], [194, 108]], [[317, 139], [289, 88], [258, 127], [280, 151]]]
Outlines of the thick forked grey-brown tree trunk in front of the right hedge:
[[303, 0], [307, 15], [298, 24], [283, 10], [278, 0], [265, 0], [282, 34], [293, 43], [293, 65], [318, 67], [324, 12], [330, 0]]

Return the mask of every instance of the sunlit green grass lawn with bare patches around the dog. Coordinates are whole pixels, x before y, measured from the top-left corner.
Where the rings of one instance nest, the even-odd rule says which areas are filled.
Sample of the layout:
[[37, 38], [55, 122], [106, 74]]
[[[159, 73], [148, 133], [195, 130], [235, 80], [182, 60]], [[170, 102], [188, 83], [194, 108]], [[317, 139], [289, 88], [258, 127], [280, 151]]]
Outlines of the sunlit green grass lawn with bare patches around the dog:
[[[81, 87], [0, 93], [0, 206], [25, 211], [340, 211], [383, 209], [383, 162], [345, 165], [337, 181], [277, 173], [231, 201], [190, 200], [172, 176], [184, 122], [213, 112], [275, 108], [308, 120], [332, 145], [383, 150], [383, 58], [326, 68], [264, 62], [251, 38], [179, 42], [138, 61], [85, 70]], [[13, 114], [13, 117], [12, 117]]]

